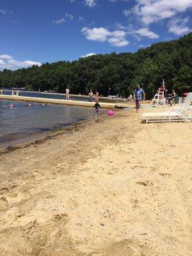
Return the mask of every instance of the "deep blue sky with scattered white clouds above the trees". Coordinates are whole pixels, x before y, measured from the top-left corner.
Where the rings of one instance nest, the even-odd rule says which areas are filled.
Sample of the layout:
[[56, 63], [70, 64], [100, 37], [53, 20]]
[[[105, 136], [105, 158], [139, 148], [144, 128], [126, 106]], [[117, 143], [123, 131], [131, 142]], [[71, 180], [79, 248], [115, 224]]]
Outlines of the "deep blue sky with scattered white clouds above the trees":
[[191, 31], [192, 0], [0, 0], [0, 69], [135, 52]]

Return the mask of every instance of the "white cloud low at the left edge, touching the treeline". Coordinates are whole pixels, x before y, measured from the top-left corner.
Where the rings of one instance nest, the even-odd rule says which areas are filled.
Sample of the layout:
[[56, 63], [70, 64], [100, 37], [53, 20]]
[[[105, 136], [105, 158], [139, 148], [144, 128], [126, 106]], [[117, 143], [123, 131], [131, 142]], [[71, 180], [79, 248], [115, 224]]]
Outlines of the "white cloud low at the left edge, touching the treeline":
[[15, 70], [17, 68], [28, 68], [33, 65], [41, 66], [42, 64], [38, 61], [31, 61], [31, 60], [17, 61], [17, 60], [14, 60], [12, 56], [9, 56], [7, 54], [0, 55], [1, 69], [7, 68], [7, 69]]

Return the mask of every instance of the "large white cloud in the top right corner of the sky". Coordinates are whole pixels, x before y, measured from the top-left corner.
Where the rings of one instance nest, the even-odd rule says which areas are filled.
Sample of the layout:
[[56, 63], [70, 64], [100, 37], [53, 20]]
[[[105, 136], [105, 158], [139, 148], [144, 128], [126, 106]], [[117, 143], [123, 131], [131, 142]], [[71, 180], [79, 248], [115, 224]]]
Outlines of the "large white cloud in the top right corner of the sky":
[[192, 0], [136, 0], [136, 2], [131, 12], [145, 25], [171, 18], [192, 7]]

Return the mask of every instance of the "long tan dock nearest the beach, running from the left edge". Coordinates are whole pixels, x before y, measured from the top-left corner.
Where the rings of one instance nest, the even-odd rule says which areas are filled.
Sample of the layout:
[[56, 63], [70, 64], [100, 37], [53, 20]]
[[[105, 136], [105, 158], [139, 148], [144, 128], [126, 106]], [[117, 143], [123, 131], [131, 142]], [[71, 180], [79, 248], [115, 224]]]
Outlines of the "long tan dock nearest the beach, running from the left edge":
[[[4, 100], [19, 100], [26, 102], [39, 102], [45, 104], [60, 104], [60, 105], [70, 105], [70, 106], [81, 106], [81, 107], [92, 107], [95, 102], [81, 101], [81, 100], [60, 100], [60, 99], [47, 99], [39, 97], [24, 97], [17, 95], [1, 95], [0, 99]], [[132, 108], [132, 105], [126, 103], [110, 103], [110, 102], [99, 102], [101, 108]]]

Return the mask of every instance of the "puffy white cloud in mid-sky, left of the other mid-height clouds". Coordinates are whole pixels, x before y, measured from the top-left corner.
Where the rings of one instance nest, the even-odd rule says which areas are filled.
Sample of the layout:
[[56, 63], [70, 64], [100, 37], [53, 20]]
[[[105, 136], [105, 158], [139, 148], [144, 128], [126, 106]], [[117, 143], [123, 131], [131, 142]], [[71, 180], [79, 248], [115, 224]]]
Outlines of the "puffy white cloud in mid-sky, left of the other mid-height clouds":
[[105, 42], [108, 41], [109, 44], [117, 47], [122, 47], [128, 45], [129, 42], [126, 40], [125, 31], [115, 30], [113, 32], [109, 31], [106, 28], [87, 28], [84, 27], [81, 29], [83, 35], [85, 35], [86, 39], [92, 41]]

